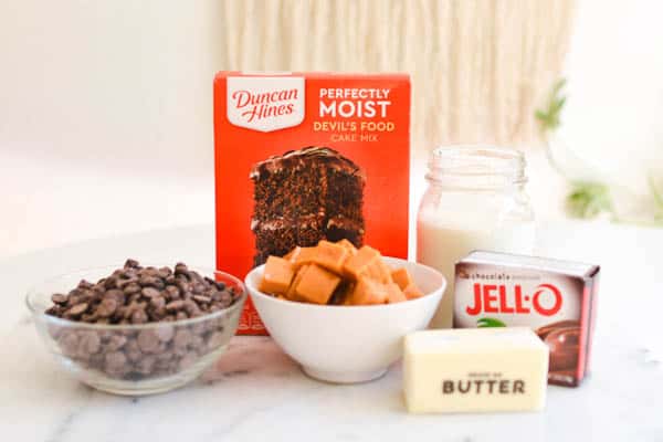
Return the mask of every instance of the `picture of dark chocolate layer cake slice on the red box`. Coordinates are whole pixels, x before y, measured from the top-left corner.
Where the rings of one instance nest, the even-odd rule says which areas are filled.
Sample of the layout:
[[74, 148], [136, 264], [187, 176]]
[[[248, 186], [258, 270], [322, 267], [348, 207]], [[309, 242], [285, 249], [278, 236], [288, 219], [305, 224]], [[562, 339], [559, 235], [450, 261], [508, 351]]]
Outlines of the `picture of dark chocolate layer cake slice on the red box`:
[[366, 176], [338, 151], [328, 147], [290, 150], [255, 164], [250, 178], [254, 183], [254, 265], [324, 239], [347, 239], [361, 246]]

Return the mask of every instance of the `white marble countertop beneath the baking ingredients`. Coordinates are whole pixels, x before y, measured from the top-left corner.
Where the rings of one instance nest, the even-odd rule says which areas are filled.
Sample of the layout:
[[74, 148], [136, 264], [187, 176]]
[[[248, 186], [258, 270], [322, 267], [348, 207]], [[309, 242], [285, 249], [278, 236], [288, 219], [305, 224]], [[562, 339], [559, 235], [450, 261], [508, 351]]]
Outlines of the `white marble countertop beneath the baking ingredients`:
[[198, 381], [124, 398], [61, 371], [23, 305], [35, 280], [144, 261], [213, 262], [213, 229], [193, 227], [95, 240], [0, 261], [0, 430], [8, 441], [435, 440], [663, 441], [663, 231], [606, 224], [543, 225], [539, 250], [602, 265], [592, 375], [549, 387], [540, 413], [411, 415], [396, 365], [377, 381], [334, 386], [305, 377], [265, 337], [235, 337]]

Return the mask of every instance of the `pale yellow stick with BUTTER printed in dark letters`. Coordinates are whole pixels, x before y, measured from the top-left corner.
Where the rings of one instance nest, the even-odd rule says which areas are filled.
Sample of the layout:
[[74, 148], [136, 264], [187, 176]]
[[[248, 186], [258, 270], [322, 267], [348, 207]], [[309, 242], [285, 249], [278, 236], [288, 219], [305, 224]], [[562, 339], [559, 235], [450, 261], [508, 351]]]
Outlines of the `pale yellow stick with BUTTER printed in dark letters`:
[[527, 327], [415, 332], [403, 388], [412, 413], [541, 410], [548, 346]]

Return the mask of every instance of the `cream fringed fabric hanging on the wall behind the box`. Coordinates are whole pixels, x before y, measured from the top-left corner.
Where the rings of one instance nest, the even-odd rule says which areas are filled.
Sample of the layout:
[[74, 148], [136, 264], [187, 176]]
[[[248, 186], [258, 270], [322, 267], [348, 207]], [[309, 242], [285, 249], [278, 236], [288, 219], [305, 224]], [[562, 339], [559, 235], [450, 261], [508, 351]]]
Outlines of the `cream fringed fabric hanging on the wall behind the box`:
[[534, 118], [560, 76], [575, 0], [225, 0], [222, 67], [406, 71], [412, 140], [538, 141]]

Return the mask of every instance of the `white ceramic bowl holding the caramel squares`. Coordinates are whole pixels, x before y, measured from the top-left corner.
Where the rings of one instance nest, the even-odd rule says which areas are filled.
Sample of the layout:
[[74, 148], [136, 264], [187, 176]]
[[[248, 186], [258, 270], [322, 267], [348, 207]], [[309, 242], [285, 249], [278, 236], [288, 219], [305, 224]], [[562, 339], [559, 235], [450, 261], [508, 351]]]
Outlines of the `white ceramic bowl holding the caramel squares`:
[[246, 275], [245, 285], [270, 335], [306, 375], [328, 382], [364, 382], [385, 375], [402, 356], [403, 337], [428, 326], [446, 286], [431, 267], [396, 257], [385, 261], [407, 267], [425, 295], [370, 306], [283, 301], [257, 290], [263, 265]]

